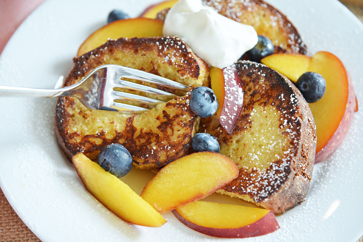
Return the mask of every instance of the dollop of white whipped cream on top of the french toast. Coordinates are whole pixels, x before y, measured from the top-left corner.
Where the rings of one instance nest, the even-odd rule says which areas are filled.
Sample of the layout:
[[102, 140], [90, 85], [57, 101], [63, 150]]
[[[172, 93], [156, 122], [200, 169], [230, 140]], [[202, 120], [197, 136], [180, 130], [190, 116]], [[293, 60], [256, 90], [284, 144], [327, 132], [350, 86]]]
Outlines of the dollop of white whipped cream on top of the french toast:
[[163, 34], [179, 36], [211, 66], [232, 65], [257, 44], [256, 30], [231, 20], [201, 0], [179, 0], [169, 10]]

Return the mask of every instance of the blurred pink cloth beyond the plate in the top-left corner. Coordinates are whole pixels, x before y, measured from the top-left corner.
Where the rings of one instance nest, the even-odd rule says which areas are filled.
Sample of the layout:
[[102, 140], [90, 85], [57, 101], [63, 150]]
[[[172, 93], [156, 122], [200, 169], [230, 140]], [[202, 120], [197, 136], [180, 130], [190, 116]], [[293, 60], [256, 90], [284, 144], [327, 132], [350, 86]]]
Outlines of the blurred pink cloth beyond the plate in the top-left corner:
[[0, 54], [25, 18], [44, 0], [0, 0]]

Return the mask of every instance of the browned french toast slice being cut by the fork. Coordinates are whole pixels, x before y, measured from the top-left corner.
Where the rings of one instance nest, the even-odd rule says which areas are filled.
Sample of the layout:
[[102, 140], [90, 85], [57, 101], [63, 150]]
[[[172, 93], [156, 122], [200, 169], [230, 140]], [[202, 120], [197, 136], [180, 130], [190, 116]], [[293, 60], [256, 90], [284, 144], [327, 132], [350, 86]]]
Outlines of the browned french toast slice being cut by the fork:
[[[110, 40], [76, 57], [64, 86], [102, 64], [136, 68], [191, 87], [209, 84], [208, 65], [180, 38], [164, 36]], [[75, 98], [62, 97], [54, 118], [58, 142], [68, 159], [82, 151], [95, 160], [103, 147], [120, 143], [143, 170], [163, 167], [187, 154], [199, 121], [189, 108], [188, 93], [143, 113], [91, 110]]]

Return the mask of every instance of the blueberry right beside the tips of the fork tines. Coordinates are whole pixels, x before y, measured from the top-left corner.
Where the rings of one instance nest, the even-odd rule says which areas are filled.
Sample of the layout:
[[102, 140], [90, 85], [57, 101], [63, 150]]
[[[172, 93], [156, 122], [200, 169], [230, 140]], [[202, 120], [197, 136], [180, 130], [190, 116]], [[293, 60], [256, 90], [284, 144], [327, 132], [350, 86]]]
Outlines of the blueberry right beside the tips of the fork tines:
[[196, 87], [191, 91], [190, 95], [190, 108], [199, 117], [211, 117], [217, 111], [217, 97], [211, 88]]

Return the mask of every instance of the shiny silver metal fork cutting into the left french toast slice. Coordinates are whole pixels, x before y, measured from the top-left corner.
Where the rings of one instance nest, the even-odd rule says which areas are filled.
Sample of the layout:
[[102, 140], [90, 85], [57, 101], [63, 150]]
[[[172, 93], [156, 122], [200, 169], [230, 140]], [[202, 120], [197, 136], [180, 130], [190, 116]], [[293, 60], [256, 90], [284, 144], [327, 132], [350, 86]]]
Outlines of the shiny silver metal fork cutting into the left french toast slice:
[[170, 96], [170, 99], [178, 96], [157, 88], [149, 87], [134, 82], [122, 80], [130, 78], [141, 80], [145, 83], [154, 83], [174, 90], [187, 92], [191, 87], [178, 82], [154, 75], [137, 69], [106, 64], [92, 70], [80, 82], [69, 87], [57, 89], [37, 89], [24, 87], [0, 86], [0, 96], [21, 96], [21, 97], [76, 97], [90, 109], [111, 110], [111, 111], [142, 111], [148, 108], [120, 103], [120, 101], [131, 101], [142, 104], [156, 105], [160, 100], [150, 97], [135, 95], [128, 92], [114, 90], [115, 88], [126, 88], [134, 91], [142, 91], [156, 95]]

